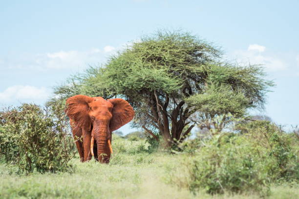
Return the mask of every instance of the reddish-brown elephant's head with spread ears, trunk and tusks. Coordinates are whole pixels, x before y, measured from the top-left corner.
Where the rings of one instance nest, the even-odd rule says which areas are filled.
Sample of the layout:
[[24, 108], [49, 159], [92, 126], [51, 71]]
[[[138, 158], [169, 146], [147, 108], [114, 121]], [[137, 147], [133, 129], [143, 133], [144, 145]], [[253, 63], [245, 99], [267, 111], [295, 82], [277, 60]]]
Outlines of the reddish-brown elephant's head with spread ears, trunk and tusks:
[[[99, 161], [104, 161], [103, 156], [111, 148], [111, 133], [128, 123], [134, 117], [134, 110], [123, 99], [104, 100], [101, 97], [88, 97], [76, 95], [66, 100], [65, 112], [75, 124], [85, 131], [91, 131], [91, 153], [96, 140]], [[107, 147], [108, 145], [108, 147]], [[107, 154], [107, 153], [106, 153]]]

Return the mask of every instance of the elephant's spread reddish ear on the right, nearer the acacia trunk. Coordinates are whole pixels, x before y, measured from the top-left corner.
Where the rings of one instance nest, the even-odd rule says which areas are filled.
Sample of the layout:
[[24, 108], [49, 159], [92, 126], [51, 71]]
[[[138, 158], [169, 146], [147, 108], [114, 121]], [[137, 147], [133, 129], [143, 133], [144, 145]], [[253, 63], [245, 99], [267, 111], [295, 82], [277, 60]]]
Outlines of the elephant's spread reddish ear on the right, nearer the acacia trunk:
[[115, 131], [134, 118], [135, 112], [128, 101], [123, 99], [108, 100], [113, 104], [110, 131]]

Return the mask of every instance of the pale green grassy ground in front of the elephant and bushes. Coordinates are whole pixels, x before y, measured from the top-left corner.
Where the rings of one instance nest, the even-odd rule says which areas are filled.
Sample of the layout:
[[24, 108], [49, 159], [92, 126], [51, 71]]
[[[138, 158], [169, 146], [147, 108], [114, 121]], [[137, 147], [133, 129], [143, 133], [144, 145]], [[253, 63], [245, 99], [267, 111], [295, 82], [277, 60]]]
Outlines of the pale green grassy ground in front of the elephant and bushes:
[[[84, 199], [257, 199], [254, 193], [211, 196], [193, 195], [187, 188], [170, 183], [171, 168], [180, 167], [184, 157], [169, 153], [142, 152], [141, 141], [114, 139], [110, 164], [72, 160], [74, 173], [17, 175], [14, 167], [0, 164], [0, 198], [84, 198]], [[183, 175], [177, 174], [177, 175]], [[271, 199], [298, 199], [299, 187], [288, 184], [271, 187]]]

